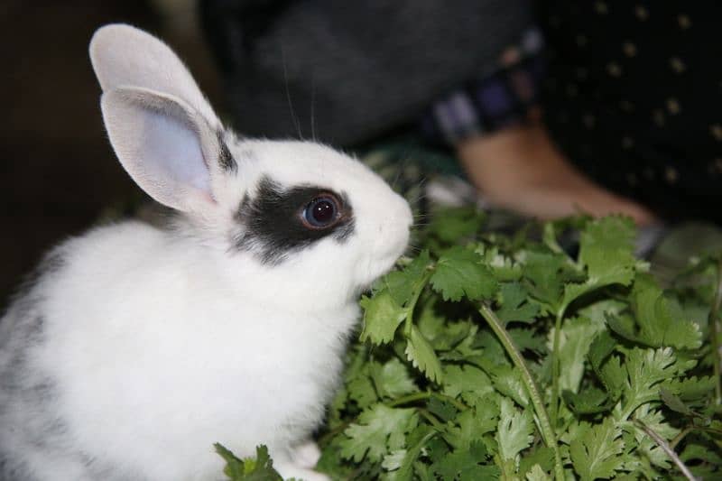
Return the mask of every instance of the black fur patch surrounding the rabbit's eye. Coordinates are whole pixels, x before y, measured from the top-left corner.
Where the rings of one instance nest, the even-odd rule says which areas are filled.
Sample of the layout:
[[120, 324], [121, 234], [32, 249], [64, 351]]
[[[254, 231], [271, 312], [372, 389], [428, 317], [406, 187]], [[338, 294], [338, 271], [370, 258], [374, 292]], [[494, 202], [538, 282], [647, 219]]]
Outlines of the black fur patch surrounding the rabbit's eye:
[[319, 194], [330, 192], [317, 186], [283, 189], [264, 177], [253, 199], [241, 200], [236, 220], [243, 224], [243, 234], [236, 237], [236, 248], [256, 251], [264, 264], [280, 264], [288, 254], [331, 236], [338, 243], [347, 242], [354, 232], [353, 209], [344, 194], [333, 193], [339, 200], [339, 220], [332, 227], [310, 229], [303, 225], [303, 209]]

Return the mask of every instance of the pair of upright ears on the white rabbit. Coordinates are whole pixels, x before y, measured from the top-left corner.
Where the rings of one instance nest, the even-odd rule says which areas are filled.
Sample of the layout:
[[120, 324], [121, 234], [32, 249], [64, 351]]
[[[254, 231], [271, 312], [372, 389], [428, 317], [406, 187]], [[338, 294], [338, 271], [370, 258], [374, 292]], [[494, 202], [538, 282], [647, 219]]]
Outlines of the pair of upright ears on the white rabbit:
[[205, 214], [213, 185], [236, 170], [222, 126], [168, 46], [123, 24], [97, 30], [90, 58], [118, 160], [143, 190], [171, 208]]

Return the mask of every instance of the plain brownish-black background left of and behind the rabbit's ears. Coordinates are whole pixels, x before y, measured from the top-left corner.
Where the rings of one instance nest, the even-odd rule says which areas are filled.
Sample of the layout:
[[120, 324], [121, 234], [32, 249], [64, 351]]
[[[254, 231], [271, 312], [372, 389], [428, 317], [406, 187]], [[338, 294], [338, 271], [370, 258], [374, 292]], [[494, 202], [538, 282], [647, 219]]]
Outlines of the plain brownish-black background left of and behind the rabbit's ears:
[[114, 22], [161, 36], [218, 105], [193, 0], [2, 0], [0, 311], [44, 251], [143, 195], [107, 141], [88, 59], [92, 33]]

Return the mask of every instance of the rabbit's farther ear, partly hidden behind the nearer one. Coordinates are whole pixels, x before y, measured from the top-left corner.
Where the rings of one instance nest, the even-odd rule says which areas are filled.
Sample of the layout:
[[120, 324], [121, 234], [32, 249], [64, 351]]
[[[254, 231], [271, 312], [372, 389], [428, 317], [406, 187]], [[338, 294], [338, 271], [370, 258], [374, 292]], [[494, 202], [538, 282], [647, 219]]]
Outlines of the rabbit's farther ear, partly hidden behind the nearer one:
[[90, 61], [104, 92], [121, 87], [148, 88], [178, 97], [213, 128], [220, 122], [190, 72], [165, 43], [123, 23], [97, 29], [90, 41]]

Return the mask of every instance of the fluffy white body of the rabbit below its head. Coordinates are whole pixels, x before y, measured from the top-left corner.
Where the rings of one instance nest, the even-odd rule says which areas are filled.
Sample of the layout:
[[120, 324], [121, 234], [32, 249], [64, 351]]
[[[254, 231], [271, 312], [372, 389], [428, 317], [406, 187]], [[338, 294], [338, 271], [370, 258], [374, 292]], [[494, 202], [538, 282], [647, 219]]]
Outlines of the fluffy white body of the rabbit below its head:
[[[3, 320], [37, 340], [22, 365], [0, 360], [0, 379], [43, 393], [32, 410], [23, 389], [0, 398], [0, 425], [12, 427], [0, 431], [0, 446], [32, 426], [14, 453], [23, 459], [42, 441], [33, 425], [55, 424], [49, 434], [79, 471], [28, 459], [49, 469], [42, 478], [83, 479], [83, 465], [102, 459], [89, 474], [140, 463], [158, 468], [147, 479], [161, 480], [220, 476], [214, 442], [246, 457], [261, 442], [304, 441], [336, 385], [356, 303], [285, 310], [254, 301], [253, 273], [230, 272], [214, 254], [136, 222], [57, 249], [51, 272], [26, 294], [32, 307]], [[293, 289], [276, 287], [276, 296]]]

